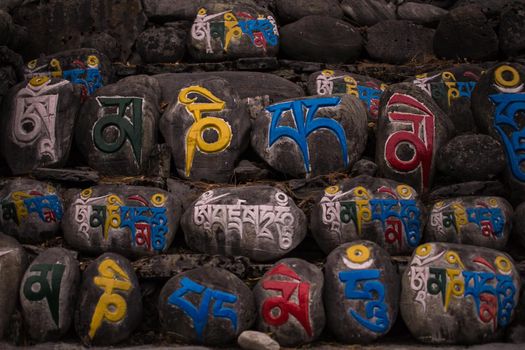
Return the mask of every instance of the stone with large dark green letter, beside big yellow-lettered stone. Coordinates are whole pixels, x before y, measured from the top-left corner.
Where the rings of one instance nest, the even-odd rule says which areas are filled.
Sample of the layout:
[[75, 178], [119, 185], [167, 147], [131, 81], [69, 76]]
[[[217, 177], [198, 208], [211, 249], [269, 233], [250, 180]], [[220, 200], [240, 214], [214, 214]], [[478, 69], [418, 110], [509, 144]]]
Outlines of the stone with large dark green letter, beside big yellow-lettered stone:
[[87, 100], [76, 142], [90, 167], [104, 175], [145, 174], [157, 144], [160, 86], [136, 75], [104, 86]]

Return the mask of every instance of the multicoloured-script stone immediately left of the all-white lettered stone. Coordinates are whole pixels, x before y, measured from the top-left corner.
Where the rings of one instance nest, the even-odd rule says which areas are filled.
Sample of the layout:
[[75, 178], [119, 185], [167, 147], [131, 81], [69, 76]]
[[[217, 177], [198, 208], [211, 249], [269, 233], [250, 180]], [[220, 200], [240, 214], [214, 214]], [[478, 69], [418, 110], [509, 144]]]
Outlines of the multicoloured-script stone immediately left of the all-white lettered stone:
[[173, 242], [181, 211], [180, 201], [158, 188], [100, 185], [68, 198], [62, 230], [82, 252], [158, 254]]

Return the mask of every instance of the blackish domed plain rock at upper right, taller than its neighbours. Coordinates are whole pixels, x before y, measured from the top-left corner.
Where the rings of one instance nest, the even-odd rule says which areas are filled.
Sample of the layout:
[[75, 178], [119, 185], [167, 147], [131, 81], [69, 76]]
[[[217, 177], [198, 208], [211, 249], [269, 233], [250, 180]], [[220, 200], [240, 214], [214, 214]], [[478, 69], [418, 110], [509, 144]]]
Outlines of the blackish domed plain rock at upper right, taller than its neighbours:
[[444, 59], [494, 59], [498, 45], [498, 37], [479, 6], [451, 10], [441, 19], [434, 35], [434, 52]]

